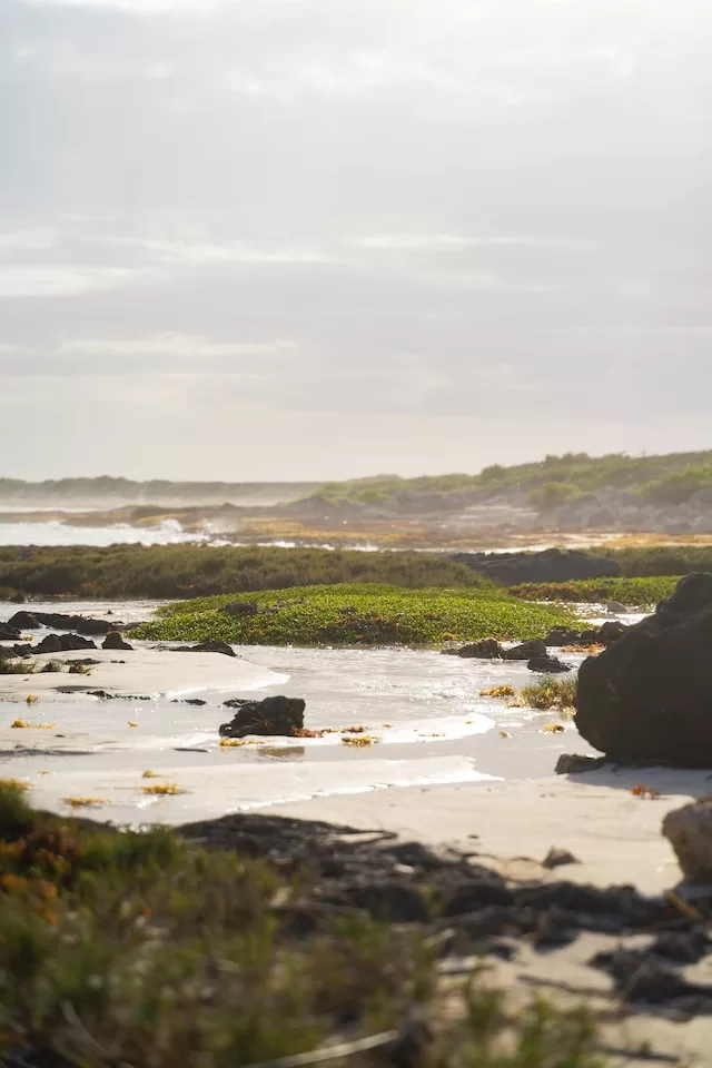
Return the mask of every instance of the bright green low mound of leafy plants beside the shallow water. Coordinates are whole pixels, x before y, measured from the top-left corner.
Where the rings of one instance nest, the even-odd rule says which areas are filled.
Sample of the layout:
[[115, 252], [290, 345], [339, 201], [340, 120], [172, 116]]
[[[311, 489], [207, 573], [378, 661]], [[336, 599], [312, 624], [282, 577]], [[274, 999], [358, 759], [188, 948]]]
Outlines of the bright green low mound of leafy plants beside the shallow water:
[[[255, 615], [221, 612], [235, 601]], [[542, 637], [574, 621], [562, 609], [524, 604], [502, 592], [304, 586], [257, 595], [206, 597], [168, 605], [134, 636], [150, 641], [219, 639], [243, 645], [439, 645], [448, 641]]]

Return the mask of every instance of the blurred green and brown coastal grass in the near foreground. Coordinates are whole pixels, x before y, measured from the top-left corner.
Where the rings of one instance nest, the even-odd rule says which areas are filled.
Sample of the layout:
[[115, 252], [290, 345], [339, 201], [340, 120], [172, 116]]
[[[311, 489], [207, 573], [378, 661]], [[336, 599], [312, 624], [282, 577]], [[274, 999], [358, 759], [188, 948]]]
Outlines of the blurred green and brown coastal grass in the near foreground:
[[[312, 892], [306, 869], [60, 820], [0, 783], [0, 1061], [240, 1068], [328, 1041], [354, 1068], [602, 1065], [583, 1008], [511, 1007], [482, 968], [444, 989], [417, 924], [322, 907], [304, 928]], [[417, 1061], [388, 1056], [416, 1007]]]

